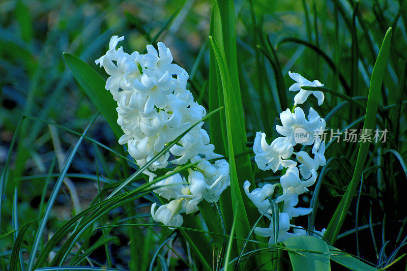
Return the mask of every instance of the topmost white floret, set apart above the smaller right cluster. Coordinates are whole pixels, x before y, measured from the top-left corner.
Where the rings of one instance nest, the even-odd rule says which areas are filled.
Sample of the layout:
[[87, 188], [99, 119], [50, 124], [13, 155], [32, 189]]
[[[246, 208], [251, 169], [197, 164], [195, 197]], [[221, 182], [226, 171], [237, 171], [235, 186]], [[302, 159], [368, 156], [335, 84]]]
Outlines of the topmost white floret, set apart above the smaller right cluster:
[[297, 81], [297, 83], [294, 83], [292, 86], [289, 87], [290, 92], [297, 92], [300, 91], [296, 96], [294, 97], [294, 105], [297, 104], [303, 104], [307, 100], [308, 96], [311, 94], [315, 96], [315, 98], [318, 100], [318, 105], [322, 105], [324, 102], [325, 96], [324, 93], [321, 91], [306, 91], [305, 89], [302, 89], [302, 86], [324, 86], [319, 82], [318, 80], [314, 81], [309, 81], [302, 77], [298, 73], [292, 73], [288, 72], [289, 77], [291, 77], [294, 81]]

